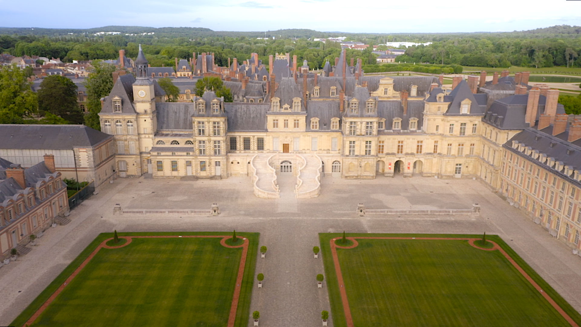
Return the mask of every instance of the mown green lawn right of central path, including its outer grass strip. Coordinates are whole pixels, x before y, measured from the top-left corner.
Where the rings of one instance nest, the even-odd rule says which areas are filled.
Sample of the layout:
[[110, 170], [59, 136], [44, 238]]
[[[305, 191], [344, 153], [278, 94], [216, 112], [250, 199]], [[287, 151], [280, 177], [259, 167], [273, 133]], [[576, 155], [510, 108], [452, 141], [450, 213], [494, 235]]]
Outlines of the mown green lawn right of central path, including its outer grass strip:
[[[346, 326], [345, 314], [329, 247], [329, 239], [337, 236], [320, 234], [320, 241], [333, 325], [340, 327]], [[581, 321], [578, 312], [500, 237], [487, 238], [505, 248], [573, 319]], [[499, 251], [478, 250], [463, 240], [358, 242], [356, 248], [337, 250], [355, 326], [569, 326]]]

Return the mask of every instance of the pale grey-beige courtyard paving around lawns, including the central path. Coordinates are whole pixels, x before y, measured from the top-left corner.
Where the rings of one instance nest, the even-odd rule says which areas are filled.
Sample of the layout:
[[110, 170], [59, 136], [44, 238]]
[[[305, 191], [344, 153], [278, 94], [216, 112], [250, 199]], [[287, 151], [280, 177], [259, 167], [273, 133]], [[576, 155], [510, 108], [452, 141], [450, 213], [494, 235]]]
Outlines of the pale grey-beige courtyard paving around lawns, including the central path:
[[[475, 233], [499, 234], [521, 257], [581, 311], [581, 259], [560, 240], [526, 218], [478, 181], [428, 177], [345, 180], [323, 177], [321, 196], [296, 199], [282, 177], [281, 198], [252, 194], [249, 177], [185, 182], [160, 179], [117, 179], [97, 196], [71, 211], [72, 222], [48, 229], [33, 251], [0, 269], [0, 326], [8, 325], [62, 270], [102, 232], [231, 231], [259, 232], [266, 258], [257, 258], [263, 289], [254, 286], [250, 311], [260, 311], [260, 326], [320, 326], [322, 310], [331, 311], [324, 273], [314, 259], [318, 233]], [[287, 190], [288, 189], [288, 190]], [[124, 209], [209, 209], [219, 216], [113, 215]], [[367, 208], [470, 209], [481, 214], [453, 216], [372, 215]], [[321, 255], [320, 255], [321, 257]], [[229, 305], [229, 304], [225, 304]], [[332, 315], [329, 326], [332, 326]], [[252, 326], [249, 317], [249, 326]]]

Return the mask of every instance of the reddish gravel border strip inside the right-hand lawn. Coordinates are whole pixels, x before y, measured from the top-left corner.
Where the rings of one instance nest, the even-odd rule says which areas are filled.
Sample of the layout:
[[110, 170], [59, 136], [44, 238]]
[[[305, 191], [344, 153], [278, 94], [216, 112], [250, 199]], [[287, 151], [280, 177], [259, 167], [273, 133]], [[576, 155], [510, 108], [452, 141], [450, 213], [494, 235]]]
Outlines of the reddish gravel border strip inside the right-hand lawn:
[[335, 240], [339, 240], [341, 239], [341, 237], [335, 237], [334, 239], [331, 239], [331, 241], [329, 241], [329, 243], [331, 244], [331, 254], [333, 255], [333, 265], [335, 265], [335, 274], [337, 275], [337, 282], [339, 283], [339, 293], [341, 294], [341, 302], [343, 303], [343, 311], [345, 311], [345, 320], [347, 322], [347, 327], [354, 327], [353, 325], [353, 317], [351, 315], [351, 309], [349, 307], [349, 301], [347, 300], [347, 292], [345, 290], [345, 283], [343, 282], [343, 274], [341, 273], [341, 267], [339, 265], [339, 257], [337, 256], [337, 248], [354, 248], [357, 247], [359, 245], [359, 243], [357, 242], [356, 239], [375, 239], [375, 240], [467, 240], [468, 244], [470, 244], [471, 246], [478, 248], [479, 250], [485, 250], [485, 251], [494, 251], [494, 250], [498, 250], [500, 251], [501, 254], [504, 255], [505, 258], [507, 258], [508, 262], [510, 262], [512, 264], [512, 266], [514, 266], [514, 268], [517, 268], [517, 270], [521, 273], [521, 275], [529, 281], [529, 283], [535, 287], [535, 289], [537, 291], [539, 291], [541, 293], [541, 295], [543, 295], [543, 297], [548, 301], [548, 303], [550, 303], [551, 305], [553, 305], [553, 307], [555, 308], [555, 310], [557, 310], [557, 312], [559, 312], [563, 318], [565, 318], [565, 320], [567, 322], [569, 322], [569, 324], [571, 324], [571, 326], [573, 327], [579, 327], [579, 325], [573, 321], [573, 319], [571, 317], [569, 317], [569, 315], [553, 300], [553, 298], [551, 298], [550, 296], [548, 296], [547, 292], [544, 292], [543, 289], [541, 289], [541, 287], [535, 282], [535, 280], [533, 280], [532, 278], [530, 278], [529, 274], [526, 273], [521, 266], [519, 266], [517, 264], [517, 262], [515, 262], [510, 255], [508, 255], [508, 253], [506, 253], [503, 248], [501, 248], [500, 246], [498, 246], [498, 244], [496, 244], [496, 242], [494, 241], [489, 241], [490, 243], [494, 244], [494, 247], [492, 248], [482, 248], [477, 246], [476, 244], [474, 244], [474, 241], [476, 240], [480, 240], [480, 239], [465, 239], [465, 238], [456, 238], [456, 237], [372, 237], [372, 236], [361, 236], [361, 237], [346, 237], [346, 239], [353, 241], [353, 244], [350, 246], [338, 246], [335, 244]]

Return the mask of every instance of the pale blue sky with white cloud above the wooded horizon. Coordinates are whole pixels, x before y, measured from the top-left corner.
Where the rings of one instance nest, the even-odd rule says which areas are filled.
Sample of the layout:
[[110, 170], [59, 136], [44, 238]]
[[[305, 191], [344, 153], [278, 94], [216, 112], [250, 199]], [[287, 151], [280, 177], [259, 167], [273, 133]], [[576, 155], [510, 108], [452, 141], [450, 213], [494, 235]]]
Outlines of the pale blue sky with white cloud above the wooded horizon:
[[123, 25], [206, 27], [215, 31], [446, 33], [521, 31], [561, 24], [581, 25], [581, 1], [61, 0], [58, 5], [30, 7], [0, 0], [2, 27], [86, 29]]

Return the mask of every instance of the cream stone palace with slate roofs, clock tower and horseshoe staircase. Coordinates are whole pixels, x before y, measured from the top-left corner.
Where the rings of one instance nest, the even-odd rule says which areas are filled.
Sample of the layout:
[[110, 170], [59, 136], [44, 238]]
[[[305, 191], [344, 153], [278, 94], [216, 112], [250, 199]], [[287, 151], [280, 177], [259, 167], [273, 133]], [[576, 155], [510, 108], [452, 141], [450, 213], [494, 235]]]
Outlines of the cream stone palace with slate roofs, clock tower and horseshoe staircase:
[[[252, 176], [266, 198], [279, 197], [281, 174], [296, 176], [305, 198], [320, 194], [321, 176], [469, 177], [579, 247], [581, 120], [565, 115], [557, 90], [530, 86], [528, 72], [454, 77], [446, 90], [442, 76], [364, 76], [345, 52], [320, 73], [288, 54], [271, 55], [268, 69], [256, 54], [242, 65], [202, 54], [176, 66], [180, 102], [165, 101], [141, 50], [134, 75], [102, 99], [118, 176]], [[221, 77], [234, 102], [211, 90], [196, 97], [203, 76]]]

